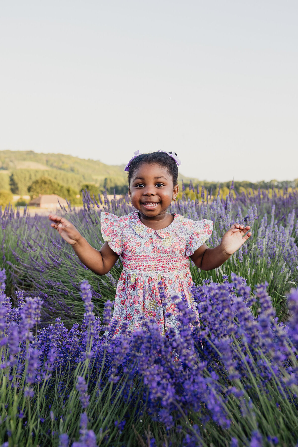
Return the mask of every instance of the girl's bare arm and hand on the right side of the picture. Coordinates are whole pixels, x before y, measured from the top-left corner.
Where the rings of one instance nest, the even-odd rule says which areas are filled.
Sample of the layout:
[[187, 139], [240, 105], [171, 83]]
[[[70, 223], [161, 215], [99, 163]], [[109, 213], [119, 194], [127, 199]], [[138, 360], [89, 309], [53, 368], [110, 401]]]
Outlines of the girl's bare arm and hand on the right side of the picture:
[[233, 223], [231, 228], [223, 235], [220, 245], [214, 249], [209, 249], [206, 244], [203, 244], [193, 253], [190, 259], [201, 270], [216, 269], [252, 236], [252, 233], [248, 230], [250, 230], [249, 226], [244, 228], [239, 223]]

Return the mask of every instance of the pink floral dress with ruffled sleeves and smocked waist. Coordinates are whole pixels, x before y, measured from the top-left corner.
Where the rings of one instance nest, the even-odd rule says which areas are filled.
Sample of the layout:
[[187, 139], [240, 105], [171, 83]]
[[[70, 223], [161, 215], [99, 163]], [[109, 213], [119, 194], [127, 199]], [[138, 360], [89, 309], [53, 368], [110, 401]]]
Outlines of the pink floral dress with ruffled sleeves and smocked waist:
[[[122, 217], [101, 213], [103, 239], [122, 257], [123, 264], [111, 320], [119, 323], [116, 333], [124, 321], [129, 323], [129, 331], [139, 329], [141, 316], [155, 320], [162, 335], [170, 327], [177, 332], [172, 295], [185, 296], [197, 313], [189, 291], [193, 284], [189, 256], [210, 237], [212, 228], [210, 220], [193, 221], [174, 214], [168, 227], [154, 230], [141, 222], [138, 211]], [[163, 303], [159, 281], [166, 295]], [[166, 316], [168, 313], [172, 315]]]

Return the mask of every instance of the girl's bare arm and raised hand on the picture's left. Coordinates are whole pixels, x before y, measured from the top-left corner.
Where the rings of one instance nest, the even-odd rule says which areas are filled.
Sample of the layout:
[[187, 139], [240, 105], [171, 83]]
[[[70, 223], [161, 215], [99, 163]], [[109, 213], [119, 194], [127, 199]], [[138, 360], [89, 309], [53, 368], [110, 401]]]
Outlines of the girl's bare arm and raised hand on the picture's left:
[[52, 214], [49, 215], [49, 219], [52, 221], [51, 227], [55, 228], [60, 236], [72, 245], [77, 257], [92, 272], [105, 275], [117, 262], [119, 256], [113, 252], [107, 242], [102, 245], [100, 250], [94, 249], [67, 219]]

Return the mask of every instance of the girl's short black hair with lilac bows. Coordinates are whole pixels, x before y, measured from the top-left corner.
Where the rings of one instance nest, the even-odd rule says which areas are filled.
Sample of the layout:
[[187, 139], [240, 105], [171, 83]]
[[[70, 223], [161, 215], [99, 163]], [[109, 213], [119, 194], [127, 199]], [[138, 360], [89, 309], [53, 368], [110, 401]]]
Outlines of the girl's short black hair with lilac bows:
[[[172, 154], [172, 152], [169, 152]], [[177, 156], [176, 152], [174, 154]], [[134, 171], [143, 163], [156, 163], [168, 169], [168, 173], [173, 179], [173, 186], [178, 183], [178, 166], [176, 161], [165, 152], [151, 152], [151, 154], [140, 154], [131, 161], [128, 171], [128, 185], [130, 186], [131, 177]]]

